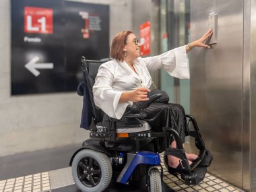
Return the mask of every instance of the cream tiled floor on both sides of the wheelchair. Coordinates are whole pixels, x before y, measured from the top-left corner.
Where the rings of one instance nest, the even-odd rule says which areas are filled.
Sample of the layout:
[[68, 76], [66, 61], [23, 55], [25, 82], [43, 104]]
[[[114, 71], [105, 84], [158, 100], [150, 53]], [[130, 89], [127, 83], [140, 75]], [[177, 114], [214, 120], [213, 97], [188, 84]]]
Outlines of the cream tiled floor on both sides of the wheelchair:
[[[163, 162], [161, 162], [164, 168], [164, 183], [168, 185], [174, 191], [179, 192], [239, 192], [241, 189], [222, 181], [214, 177], [211, 174], [206, 173], [205, 179], [199, 183], [199, 185], [187, 186], [177, 177], [172, 176], [166, 171]], [[32, 174], [24, 177], [18, 177], [15, 179], [7, 179], [0, 181], [0, 192], [39, 192], [39, 191], [51, 191], [74, 185], [74, 181], [71, 175], [71, 167], [61, 168], [58, 170], [51, 170], [49, 172], [41, 172], [38, 174]]]

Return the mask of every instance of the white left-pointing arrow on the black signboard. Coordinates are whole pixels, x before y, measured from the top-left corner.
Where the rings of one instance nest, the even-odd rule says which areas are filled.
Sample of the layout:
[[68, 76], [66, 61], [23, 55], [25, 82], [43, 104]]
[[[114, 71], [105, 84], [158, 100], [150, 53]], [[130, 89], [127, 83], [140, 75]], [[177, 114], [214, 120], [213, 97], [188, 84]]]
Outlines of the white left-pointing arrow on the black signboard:
[[53, 69], [53, 63], [36, 63], [37, 61], [39, 61], [39, 57], [36, 56], [25, 65], [28, 71], [33, 73], [36, 77], [40, 75], [37, 69]]

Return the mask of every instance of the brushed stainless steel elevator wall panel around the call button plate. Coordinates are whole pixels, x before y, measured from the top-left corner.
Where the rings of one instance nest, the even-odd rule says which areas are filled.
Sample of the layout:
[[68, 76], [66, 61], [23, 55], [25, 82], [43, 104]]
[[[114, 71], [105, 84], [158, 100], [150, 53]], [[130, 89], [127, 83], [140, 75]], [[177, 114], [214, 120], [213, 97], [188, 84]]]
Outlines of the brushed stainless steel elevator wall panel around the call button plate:
[[191, 40], [218, 14], [218, 43], [191, 51], [191, 115], [214, 161], [210, 172], [243, 187], [243, 1], [191, 0]]

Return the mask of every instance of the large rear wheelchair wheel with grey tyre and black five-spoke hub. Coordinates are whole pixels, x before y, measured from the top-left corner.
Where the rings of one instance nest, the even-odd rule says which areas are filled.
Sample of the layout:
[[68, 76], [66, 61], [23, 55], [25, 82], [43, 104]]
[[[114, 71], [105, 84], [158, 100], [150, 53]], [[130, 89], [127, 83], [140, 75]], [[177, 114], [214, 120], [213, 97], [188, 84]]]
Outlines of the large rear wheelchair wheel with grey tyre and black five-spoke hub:
[[94, 150], [81, 150], [72, 162], [73, 179], [83, 192], [100, 192], [108, 187], [112, 166], [108, 156]]

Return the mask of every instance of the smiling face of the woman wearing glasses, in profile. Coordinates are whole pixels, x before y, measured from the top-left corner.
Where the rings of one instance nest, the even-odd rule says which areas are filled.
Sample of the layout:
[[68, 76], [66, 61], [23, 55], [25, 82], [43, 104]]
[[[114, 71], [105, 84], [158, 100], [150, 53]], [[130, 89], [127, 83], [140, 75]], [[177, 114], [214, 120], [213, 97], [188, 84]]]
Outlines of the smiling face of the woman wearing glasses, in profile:
[[131, 59], [137, 59], [140, 56], [141, 44], [137, 40], [135, 34], [131, 33], [127, 36], [127, 41], [123, 51], [127, 52], [127, 57]]

